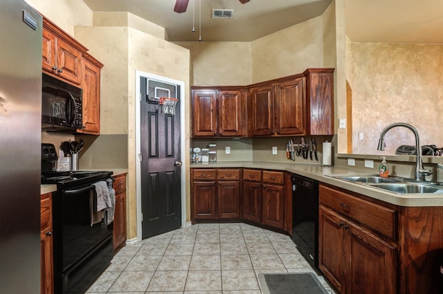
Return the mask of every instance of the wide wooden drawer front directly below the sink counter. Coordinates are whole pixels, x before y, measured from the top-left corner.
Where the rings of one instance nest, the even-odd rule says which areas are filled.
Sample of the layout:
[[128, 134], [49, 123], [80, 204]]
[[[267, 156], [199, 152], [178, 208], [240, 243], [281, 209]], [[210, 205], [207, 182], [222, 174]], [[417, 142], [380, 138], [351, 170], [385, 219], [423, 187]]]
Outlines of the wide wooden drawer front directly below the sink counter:
[[391, 239], [396, 239], [397, 210], [321, 185], [318, 197], [320, 204], [329, 206]]

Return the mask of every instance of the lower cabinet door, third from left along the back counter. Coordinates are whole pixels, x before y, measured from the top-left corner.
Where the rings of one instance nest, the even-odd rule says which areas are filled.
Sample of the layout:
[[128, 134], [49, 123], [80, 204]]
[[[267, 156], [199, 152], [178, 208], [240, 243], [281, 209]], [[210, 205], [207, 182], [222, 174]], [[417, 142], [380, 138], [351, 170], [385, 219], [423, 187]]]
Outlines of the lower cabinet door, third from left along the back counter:
[[243, 182], [242, 204], [242, 217], [260, 223], [262, 220], [262, 193], [260, 183]]

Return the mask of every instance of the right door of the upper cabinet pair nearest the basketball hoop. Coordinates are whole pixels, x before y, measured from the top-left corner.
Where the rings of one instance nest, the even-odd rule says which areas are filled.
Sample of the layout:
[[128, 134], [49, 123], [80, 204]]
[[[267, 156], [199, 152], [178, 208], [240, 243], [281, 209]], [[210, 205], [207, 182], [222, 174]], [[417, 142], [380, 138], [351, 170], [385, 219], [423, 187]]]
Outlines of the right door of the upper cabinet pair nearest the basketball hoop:
[[217, 101], [218, 135], [246, 136], [246, 92], [244, 90], [220, 90]]

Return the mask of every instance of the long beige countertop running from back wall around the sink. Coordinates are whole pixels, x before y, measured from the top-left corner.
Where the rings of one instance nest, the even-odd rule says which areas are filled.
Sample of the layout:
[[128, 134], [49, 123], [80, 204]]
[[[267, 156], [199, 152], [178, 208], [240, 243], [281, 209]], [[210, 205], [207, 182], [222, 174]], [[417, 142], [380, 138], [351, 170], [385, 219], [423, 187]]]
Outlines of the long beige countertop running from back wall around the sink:
[[[289, 173], [296, 173], [319, 182], [331, 184], [340, 188], [350, 190], [379, 199], [383, 202], [398, 206], [443, 206], [443, 193], [423, 193], [423, 194], [397, 194], [388, 190], [381, 190], [367, 185], [343, 181], [329, 177], [330, 175], [370, 175], [364, 170], [354, 170], [344, 167], [323, 167], [319, 164], [294, 164], [264, 161], [221, 161], [215, 164], [191, 164], [191, 168], [262, 168], [273, 170], [285, 170]], [[373, 174], [373, 173], [372, 173]]]

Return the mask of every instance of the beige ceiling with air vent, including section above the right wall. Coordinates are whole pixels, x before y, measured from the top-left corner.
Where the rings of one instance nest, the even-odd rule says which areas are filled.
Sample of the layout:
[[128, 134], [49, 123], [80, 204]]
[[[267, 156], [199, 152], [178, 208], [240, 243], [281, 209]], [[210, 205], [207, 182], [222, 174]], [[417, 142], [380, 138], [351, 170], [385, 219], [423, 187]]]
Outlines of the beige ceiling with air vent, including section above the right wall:
[[[156, 23], [169, 41], [253, 41], [318, 17], [332, 0], [190, 0], [184, 13], [174, 12], [175, 0], [83, 1], [94, 12], [131, 12]], [[213, 19], [213, 8], [233, 9], [234, 17]], [[441, 0], [345, 0], [345, 22], [354, 42], [443, 44]]]

